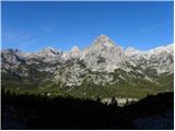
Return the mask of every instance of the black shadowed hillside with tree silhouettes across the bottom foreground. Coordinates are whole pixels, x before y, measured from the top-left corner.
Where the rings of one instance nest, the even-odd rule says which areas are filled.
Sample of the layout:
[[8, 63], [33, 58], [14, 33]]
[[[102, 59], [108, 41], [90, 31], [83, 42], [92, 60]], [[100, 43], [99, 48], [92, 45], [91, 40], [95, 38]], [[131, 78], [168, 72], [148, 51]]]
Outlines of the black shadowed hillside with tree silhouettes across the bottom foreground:
[[[121, 108], [91, 99], [22, 95], [2, 90], [2, 129], [142, 129], [133, 121], [151, 116], [166, 119], [164, 114], [174, 107], [173, 97], [174, 93], [163, 93]], [[173, 115], [167, 119], [161, 128], [153, 124], [145, 129], [173, 129]]]

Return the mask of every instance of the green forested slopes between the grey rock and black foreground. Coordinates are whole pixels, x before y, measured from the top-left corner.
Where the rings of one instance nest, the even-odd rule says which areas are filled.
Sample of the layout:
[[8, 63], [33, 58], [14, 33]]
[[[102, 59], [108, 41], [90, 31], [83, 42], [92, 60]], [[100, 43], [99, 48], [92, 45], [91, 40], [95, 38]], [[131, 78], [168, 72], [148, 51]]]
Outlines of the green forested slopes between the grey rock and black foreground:
[[[101, 75], [100, 72], [91, 72]], [[147, 80], [145, 75], [131, 71], [127, 73], [124, 70], [115, 70], [110, 72], [114, 81], [110, 83], [94, 84], [84, 79], [79, 86], [60, 86], [61, 82], [55, 82], [54, 76], [49, 73], [35, 72], [32, 76], [19, 78], [14, 74], [2, 73], [2, 88], [15, 94], [51, 94], [51, 96], [72, 96], [75, 98], [97, 97], [132, 97], [144, 98], [148, 95], [156, 95], [163, 92], [173, 92], [174, 76], [173, 74], [156, 75], [156, 72], [145, 71], [151, 80]]]

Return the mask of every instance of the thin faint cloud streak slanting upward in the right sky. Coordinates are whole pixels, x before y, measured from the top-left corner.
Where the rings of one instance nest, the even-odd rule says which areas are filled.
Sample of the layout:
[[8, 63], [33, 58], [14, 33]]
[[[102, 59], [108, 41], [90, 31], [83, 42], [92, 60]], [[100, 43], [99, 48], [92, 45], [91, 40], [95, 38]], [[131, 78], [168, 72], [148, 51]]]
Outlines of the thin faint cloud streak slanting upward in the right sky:
[[142, 28], [139, 33], [143, 34], [143, 33], [150, 33], [154, 29], [158, 29], [160, 27], [163, 27], [163, 26], [166, 26], [166, 25], [170, 25], [172, 24], [173, 22], [172, 21], [165, 21], [163, 23], [158, 23], [158, 24], [154, 24], [154, 25], [151, 25], [151, 26], [148, 26], [145, 28]]

